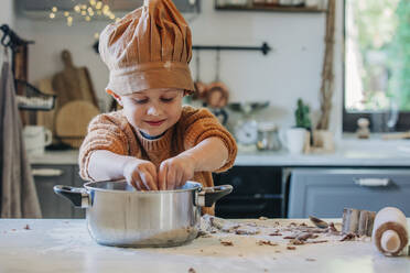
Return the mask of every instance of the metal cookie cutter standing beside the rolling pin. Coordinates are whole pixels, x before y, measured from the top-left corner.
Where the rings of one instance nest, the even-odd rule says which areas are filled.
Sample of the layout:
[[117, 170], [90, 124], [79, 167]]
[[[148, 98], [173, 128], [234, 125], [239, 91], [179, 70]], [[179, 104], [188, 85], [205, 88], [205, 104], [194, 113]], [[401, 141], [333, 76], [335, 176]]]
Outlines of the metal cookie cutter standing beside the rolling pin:
[[343, 209], [342, 233], [371, 237], [376, 212], [355, 208]]

